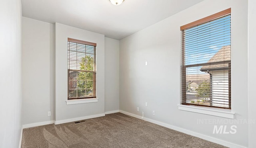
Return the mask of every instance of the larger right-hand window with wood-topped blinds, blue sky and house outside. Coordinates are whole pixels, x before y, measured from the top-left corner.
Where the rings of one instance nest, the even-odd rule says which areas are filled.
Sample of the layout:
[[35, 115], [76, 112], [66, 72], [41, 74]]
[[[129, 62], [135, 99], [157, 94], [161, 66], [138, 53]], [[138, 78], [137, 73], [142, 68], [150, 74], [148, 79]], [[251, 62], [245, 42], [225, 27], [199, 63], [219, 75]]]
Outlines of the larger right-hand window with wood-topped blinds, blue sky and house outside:
[[231, 108], [230, 13], [180, 27], [182, 104]]

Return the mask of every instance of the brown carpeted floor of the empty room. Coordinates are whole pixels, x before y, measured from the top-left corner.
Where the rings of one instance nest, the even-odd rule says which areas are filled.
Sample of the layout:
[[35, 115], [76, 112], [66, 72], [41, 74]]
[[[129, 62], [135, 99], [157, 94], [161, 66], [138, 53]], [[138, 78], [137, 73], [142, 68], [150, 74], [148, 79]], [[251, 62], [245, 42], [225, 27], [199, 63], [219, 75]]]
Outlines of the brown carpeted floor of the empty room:
[[23, 129], [22, 148], [224, 148], [122, 113]]

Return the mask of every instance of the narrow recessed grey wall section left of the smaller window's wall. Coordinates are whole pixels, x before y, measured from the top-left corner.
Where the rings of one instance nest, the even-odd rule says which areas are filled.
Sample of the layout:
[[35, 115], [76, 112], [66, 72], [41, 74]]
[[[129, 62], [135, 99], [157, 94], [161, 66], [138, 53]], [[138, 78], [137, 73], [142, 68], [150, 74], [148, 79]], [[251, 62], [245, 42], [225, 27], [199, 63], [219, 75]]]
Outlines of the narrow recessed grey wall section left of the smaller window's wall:
[[54, 29], [54, 24], [22, 17], [23, 125], [54, 120]]

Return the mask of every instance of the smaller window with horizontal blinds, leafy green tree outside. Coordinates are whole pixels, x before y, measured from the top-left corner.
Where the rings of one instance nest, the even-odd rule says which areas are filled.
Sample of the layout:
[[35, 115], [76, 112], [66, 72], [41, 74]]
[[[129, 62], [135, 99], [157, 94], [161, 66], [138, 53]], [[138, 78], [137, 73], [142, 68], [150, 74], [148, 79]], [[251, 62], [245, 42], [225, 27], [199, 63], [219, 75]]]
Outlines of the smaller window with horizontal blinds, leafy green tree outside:
[[68, 99], [96, 97], [96, 43], [68, 38]]

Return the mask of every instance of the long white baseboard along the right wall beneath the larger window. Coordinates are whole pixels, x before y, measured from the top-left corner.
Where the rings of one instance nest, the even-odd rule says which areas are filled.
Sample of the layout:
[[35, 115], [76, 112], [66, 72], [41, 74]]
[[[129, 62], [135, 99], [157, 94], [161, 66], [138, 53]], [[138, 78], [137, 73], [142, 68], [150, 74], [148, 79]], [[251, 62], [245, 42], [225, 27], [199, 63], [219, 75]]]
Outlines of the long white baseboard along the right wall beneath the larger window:
[[196, 136], [198, 138], [202, 138], [204, 140], [208, 140], [210, 142], [214, 142], [214, 143], [217, 143], [217, 144], [221, 144], [223, 146], [227, 146], [227, 147], [230, 147], [230, 148], [246, 148], [244, 146], [240, 146], [238, 144], [234, 144], [234, 143], [231, 143], [231, 142], [227, 142], [227, 141], [224, 141], [224, 140], [220, 140], [218, 138], [214, 138], [214, 137], [211, 137], [211, 136], [206, 136], [204, 134], [200, 134], [198, 132], [193, 132], [191, 130], [186, 130], [186, 129], [182, 129], [180, 127], [175, 127], [175, 126], [172, 126], [172, 125], [169, 125], [169, 124], [166, 124], [166, 123], [162, 123], [160, 121], [156, 121], [156, 120], [152, 120], [152, 119], [148, 119], [148, 118], [142, 118], [141, 116], [139, 115], [135, 115], [135, 114], [132, 114], [132, 113], [128, 113], [126, 111], [122, 111], [120, 110], [120, 113], [123, 113], [123, 114], [126, 114], [126, 115], [129, 115], [129, 116], [132, 116], [132, 117], [135, 117], [135, 118], [138, 118], [138, 119], [142, 119], [142, 120], [145, 120], [145, 121], [148, 121], [150, 123], [154, 123], [154, 124], [157, 124], [157, 125], [161, 125], [163, 127], [167, 127], [169, 129], [173, 129], [173, 130], [177, 130], [179, 132], [183, 132], [185, 134], [189, 134], [189, 135], [192, 135], [192, 136]]

